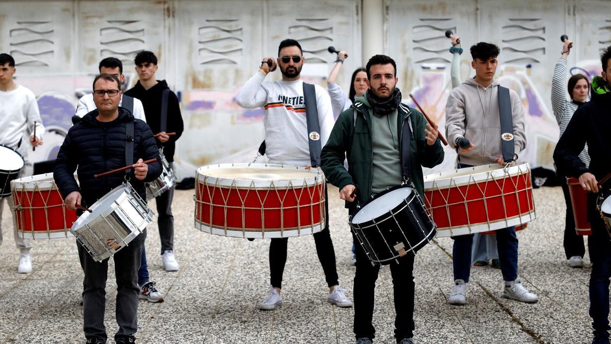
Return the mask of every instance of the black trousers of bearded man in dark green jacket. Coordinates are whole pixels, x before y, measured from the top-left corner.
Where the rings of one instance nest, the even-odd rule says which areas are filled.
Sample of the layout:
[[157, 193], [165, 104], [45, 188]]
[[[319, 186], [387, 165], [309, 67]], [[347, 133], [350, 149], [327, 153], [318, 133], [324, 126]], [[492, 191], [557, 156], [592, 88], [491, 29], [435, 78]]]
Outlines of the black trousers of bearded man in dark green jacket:
[[[380, 266], [371, 265], [365, 250], [353, 234], [356, 249], [356, 274], [354, 275], [354, 335], [356, 338], [373, 339], [374, 290]], [[414, 255], [408, 253], [400, 258], [399, 264], [390, 263], [393, 296], [395, 299], [395, 338], [397, 343], [403, 338], [414, 336]]]

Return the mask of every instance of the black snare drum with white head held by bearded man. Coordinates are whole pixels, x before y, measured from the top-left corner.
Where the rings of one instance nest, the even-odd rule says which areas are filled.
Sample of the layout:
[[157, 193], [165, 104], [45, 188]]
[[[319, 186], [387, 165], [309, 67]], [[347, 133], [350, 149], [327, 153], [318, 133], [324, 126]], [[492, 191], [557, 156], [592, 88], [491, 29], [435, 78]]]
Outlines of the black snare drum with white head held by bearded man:
[[371, 264], [399, 263], [398, 258], [415, 255], [437, 233], [417, 192], [408, 185], [378, 193], [348, 223]]

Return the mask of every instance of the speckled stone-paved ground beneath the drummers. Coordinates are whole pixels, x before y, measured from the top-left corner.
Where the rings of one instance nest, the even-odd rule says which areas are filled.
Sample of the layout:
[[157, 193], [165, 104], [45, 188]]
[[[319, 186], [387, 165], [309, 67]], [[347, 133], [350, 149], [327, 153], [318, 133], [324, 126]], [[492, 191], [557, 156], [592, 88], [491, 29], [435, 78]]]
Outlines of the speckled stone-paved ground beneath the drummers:
[[[147, 252], [152, 280], [166, 295], [161, 304], [140, 302], [140, 343], [351, 343], [353, 308], [327, 304], [323, 271], [311, 236], [289, 240], [284, 275], [284, 305], [262, 312], [268, 292], [268, 241], [211, 236], [193, 226], [193, 191], [177, 191], [175, 253], [180, 271], [165, 272], [156, 223], [148, 227]], [[337, 195], [337, 189], [329, 190]], [[535, 190], [537, 219], [518, 234], [519, 274], [540, 302], [502, 299], [502, 277], [492, 267], [474, 267], [468, 304], [446, 302], [452, 288], [452, 240], [437, 239], [415, 263], [415, 340], [417, 343], [585, 343], [591, 340], [588, 277], [564, 259], [562, 190]], [[154, 206], [154, 204], [153, 204]], [[154, 209], [154, 208], [153, 208]], [[331, 231], [340, 283], [352, 296], [354, 267], [346, 212], [331, 200]], [[0, 342], [82, 343], [82, 271], [74, 239], [37, 240], [34, 271], [16, 272], [17, 251], [4, 209], [0, 246]], [[111, 263], [112, 265], [113, 263]], [[114, 321], [116, 285], [109, 267], [106, 326]], [[376, 288], [376, 343], [393, 343], [394, 307], [388, 268]], [[112, 342], [112, 340], [111, 340]]]

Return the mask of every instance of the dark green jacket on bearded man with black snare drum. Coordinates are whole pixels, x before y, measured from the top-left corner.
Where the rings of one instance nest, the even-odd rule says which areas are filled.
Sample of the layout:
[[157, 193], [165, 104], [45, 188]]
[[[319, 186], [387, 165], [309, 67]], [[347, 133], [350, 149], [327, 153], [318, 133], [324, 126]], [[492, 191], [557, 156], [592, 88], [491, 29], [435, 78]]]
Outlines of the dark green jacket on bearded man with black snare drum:
[[[354, 116], [356, 110], [356, 118]], [[404, 163], [403, 130], [412, 130], [409, 142], [409, 181], [414, 184], [415, 189], [423, 195], [424, 182], [422, 167], [432, 168], [444, 160], [444, 149], [441, 141], [433, 146], [426, 144], [426, 120], [422, 113], [407, 105], [401, 104], [398, 109], [397, 128], [400, 138], [401, 165]], [[411, 128], [408, 119], [411, 121]], [[357, 185], [356, 200], [346, 201], [346, 208], [350, 213], [354, 211], [357, 203], [365, 203], [371, 197], [371, 184], [373, 170], [372, 165], [372, 140], [371, 140], [371, 106], [365, 96], [354, 100], [348, 110], [343, 111], [337, 118], [327, 144], [321, 154], [323, 172], [327, 181], [337, 186], [340, 190], [349, 184]], [[348, 171], [344, 168], [344, 159], [348, 159]], [[400, 167], [401, 168], [401, 167]], [[404, 176], [405, 177], [405, 176]], [[397, 183], [398, 185], [399, 183]]]

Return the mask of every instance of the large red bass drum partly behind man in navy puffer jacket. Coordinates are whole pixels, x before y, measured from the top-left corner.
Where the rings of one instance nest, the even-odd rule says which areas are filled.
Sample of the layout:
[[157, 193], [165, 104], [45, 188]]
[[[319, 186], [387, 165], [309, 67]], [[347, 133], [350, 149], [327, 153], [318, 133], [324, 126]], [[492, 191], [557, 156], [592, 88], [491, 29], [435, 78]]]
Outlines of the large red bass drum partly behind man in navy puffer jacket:
[[70, 227], [76, 221], [76, 211], [65, 206], [53, 173], [15, 179], [10, 185], [19, 237], [55, 239], [73, 236]]

